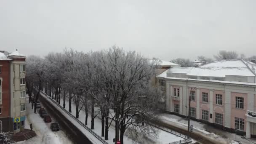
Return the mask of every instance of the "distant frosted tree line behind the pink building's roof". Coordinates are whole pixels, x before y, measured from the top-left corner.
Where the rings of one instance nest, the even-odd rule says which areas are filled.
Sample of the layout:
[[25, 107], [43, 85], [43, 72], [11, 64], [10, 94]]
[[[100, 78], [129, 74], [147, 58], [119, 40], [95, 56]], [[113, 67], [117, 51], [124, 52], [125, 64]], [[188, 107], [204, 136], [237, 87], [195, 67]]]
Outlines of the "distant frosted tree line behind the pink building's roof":
[[[219, 51], [217, 55], [213, 55], [215, 60], [225, 60], [225, 59], [245, 59], [248, 61], [256, 60], [256, 55], [251, 57], [246, 57], [243, 53], [239, 55], [236, 51]], [[212, 61], [214, 61], [212, 58], [207, 58], [205, 56], [197, 56], [197, 61], [202, 64], [208, 64]], [[180, 64], [181, 67], [194, 67], [194, 61], [191, 61], [190, 59], [184, 59], [184, 58], [177, 58], [172, 59], [170, 62], [173, 62], [175, 64]]]

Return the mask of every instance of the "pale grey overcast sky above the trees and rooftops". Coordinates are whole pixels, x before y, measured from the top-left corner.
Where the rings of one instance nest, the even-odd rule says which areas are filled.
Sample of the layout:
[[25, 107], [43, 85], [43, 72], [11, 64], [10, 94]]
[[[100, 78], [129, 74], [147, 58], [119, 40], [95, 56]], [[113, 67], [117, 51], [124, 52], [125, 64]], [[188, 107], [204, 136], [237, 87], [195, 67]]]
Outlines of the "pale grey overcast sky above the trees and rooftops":
[[165, 60], [256, 55], [256, 0], [0, 0], [0, 49], [44, 56], [112, 45]]

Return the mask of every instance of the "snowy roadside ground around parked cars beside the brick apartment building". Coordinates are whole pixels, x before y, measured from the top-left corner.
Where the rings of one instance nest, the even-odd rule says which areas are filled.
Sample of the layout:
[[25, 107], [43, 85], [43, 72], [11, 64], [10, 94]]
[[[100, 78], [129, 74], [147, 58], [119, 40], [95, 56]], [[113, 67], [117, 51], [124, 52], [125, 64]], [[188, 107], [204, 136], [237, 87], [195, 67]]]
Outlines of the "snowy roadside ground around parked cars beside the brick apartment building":
[[[41, 104], [42, 105], [42, 104]], [[38, 109], [37, 109], [38, 110]], [[33, 130], [37, 134], [37, 136], [28, 139], [27, 141], [20, 141], [17, 142], [17, 144], [74, 144], [64, 133], [64, 131], [51, 131], [50, 124], [51, 123], [45, 123], [43, 121], [43, 118], [40, 117], [39, 113], [34, 113], [34, 109], [31, 109], [31, 104], [26, 104], [26, 113], [27, 117], [25, 120], [25, 128], [29, 128], [29, 124], [32, 123]], [[55, 122], [55, 120], [52, 118], [52, 122]]]

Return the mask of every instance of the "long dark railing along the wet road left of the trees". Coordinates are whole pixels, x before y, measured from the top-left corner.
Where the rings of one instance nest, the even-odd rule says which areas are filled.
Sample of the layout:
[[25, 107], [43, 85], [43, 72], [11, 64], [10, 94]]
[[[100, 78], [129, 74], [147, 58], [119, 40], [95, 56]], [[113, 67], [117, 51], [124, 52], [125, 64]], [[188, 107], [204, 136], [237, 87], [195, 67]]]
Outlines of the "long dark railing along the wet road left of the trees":
[[63, 107], [61, 107], [56, 101], [54, 101], [53, 99], [49, 98], [48, 95], [46, 95], [43, 91], [41, 91], [45, 96], [47, 96], [48, 99], [50, 99], [51, 101], [53, 101], [53, 103], [55, 103], [58, 107], [60, 107], [64, 112], [66, 112], [70, 117], [72, 117], [74, 120], [77, 121], [77, 123], [79, 123], [80, 125], [82, 125], [86, 130], [88, 130], [91, 134], [93, 134], [93, 136], [95, 136], [97, 139], [99, 139], [103, 144], [108, 144], [107, 141], [105, 141], [104, 139], [101, 138], [101, 136], [99, 136], [97, 133], [95, 133], [93, 130], [91, 130], [91, 128], [88, 128], [88, 126], [86, 126], [84, 123], [82, 123], [80, 120], [78, 120], [77, 118], [75, 118], [74, 115], [72, 115], [70, 112], [68, 112], [66, 109], [64, 109]]

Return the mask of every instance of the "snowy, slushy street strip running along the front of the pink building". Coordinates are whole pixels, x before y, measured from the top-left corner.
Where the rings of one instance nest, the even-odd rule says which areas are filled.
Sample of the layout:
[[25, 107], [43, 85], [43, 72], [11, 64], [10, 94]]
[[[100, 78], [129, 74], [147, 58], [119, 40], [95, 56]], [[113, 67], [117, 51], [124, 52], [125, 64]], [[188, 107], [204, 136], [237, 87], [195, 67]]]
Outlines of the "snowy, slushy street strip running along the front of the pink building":
[[[159, 116], [161, 120], [165, 123], [176, 125], [180, 128], [187, 129], [187, 119], [184, 119], [176, 115], [166, 114], [166, 113], [160, 114]], [[190, 124], [193, 125], [193, 130], [195, 132], [203, 134], [210, 139], [214, 139], [216, 141], [220, 141], [227, 144], [238, 144], [238, 142], [235, 141], [235, 133], [221, 131], [220, 129], [214, 128], [211, 125], [200, 123], [194, 120], [191, 120]], [[249, 140], [255, 141], [254, 139], [249, 139]], [[237, 135], [237, 141], [240, 141], [242, 144], [253, 144], [253, 142], [243, 139], [239, 135]]]

